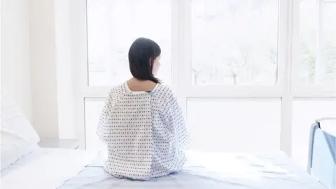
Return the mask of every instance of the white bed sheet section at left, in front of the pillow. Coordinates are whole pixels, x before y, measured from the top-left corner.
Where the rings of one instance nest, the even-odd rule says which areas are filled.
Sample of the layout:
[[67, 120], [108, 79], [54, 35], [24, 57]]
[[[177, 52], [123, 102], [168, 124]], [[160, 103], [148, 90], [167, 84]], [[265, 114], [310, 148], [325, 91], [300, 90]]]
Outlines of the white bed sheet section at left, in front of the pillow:
[[1, 172], [4, 189], [55, 189], [76, 176], [97, 154], [57, 148], [38, 148]]

